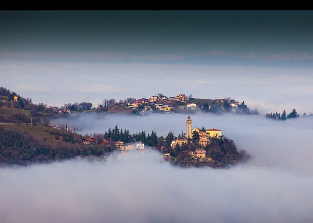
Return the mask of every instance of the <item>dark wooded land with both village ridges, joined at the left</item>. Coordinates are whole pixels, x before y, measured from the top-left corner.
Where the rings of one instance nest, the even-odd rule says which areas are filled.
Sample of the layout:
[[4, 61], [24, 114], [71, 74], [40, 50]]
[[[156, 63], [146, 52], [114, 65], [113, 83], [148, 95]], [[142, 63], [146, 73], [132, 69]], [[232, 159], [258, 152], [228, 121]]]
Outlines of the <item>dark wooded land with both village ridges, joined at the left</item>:
[[151, 96], [149, 100], [128, 98], [117, 103], [114, 99], [104, 100], [98, 108], [93, 108], [89, 102], [66, 104], [59, 108], [48, 107], [43, 103], [34, 104], [30, 98], [21, 97], [3, 87], [0, 87], [0, 98], [0, 165], [27, 165], [75, 156], [103, 158], [115, 150], [125, 154], [132, 151], [145, 152], [148, 148], [159, 151], [167, 161], [180, 166], [223, 167], [236, 164], [245, 157], [220, 130], [192, 126], [190, 116], [186, 121], [186, 132], [175, 135], [169, 131], [167, 136], [157, 136], [156, 131], [131, 134], [129, 130], [117, 126], [109, 128], [105, 133], [82, 136], [77, 133], [77, 129], [66, 123], [64, 126], [55, 126], [50, 121], [51, 118], [75, 112], [112, 113], [112, 110], [120, 109], [135, 111], [131, 112], [135, 115], [140, 114], [138, 111], [150, 109], [152, 111], [149, 112], [190, 114], [197, 109], [213, 112], [218, 106], [223, 106], [224, 109], [233, 106], [237, 111], [247, 109], [244, 102], [237, 106], [237, 102], [230, 98], [195, 99], [184, 94], [167, 98], [158, 94]]

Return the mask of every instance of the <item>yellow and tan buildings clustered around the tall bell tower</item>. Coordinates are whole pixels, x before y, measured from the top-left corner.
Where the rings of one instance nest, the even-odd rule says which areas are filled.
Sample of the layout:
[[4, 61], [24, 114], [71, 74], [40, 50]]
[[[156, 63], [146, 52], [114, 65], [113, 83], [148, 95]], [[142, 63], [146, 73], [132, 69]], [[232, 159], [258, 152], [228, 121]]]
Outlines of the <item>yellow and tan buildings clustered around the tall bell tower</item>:
[[[192, 120], [190, 118], [190, 115], [188, 116], [186, 120], [186, 137], [185, 138], [179, 138], [176, 140], [173, 140], [171, 142], [171, 147], [174, 149], [175, 146], [178, 144], [179, 146], [182, 146], [183, 143], [187, 144], [188, 139], [192, 139], [192, 133], [197, 132], [199, 135], [199, 144], [203, 147], [207, 146], [210, 143], [211, 137], [219, 138], [222, 136], [222, 131], [212, 128], [212, 129], [200, 129], [200, 128], [193, 128], [192, 129]], [[192, 153], [192, 156], [198, 157], [198, 158], [205, 158], [206, 151], [203, 149], [197, 149]]]

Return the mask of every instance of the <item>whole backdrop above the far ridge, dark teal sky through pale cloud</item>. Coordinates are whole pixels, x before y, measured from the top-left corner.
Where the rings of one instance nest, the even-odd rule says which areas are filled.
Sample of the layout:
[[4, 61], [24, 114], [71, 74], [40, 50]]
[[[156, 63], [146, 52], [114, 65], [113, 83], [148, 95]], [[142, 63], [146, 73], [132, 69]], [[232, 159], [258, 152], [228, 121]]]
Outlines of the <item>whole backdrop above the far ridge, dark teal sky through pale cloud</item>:
[[0, 85], [56, 106], [185, 93], [310, 113], [312, 21], [311, 11], [1, 11]]

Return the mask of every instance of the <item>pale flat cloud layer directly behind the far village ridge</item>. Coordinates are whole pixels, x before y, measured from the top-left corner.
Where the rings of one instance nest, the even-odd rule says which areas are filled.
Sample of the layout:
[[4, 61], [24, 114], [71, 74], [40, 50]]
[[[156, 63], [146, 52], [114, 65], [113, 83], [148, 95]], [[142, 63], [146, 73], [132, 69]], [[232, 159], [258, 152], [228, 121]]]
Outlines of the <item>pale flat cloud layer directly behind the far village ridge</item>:
[[309, 67], [0, 62], [1, 86], [31, 97], [35, 103], [61, 106], [88, 101], [97, 105], [105, 98], [185, 93], [195, 98], [231, 97], [261, 113], [293, 108], [313, 112], [308, 103], [313, 96], [312, 72]]

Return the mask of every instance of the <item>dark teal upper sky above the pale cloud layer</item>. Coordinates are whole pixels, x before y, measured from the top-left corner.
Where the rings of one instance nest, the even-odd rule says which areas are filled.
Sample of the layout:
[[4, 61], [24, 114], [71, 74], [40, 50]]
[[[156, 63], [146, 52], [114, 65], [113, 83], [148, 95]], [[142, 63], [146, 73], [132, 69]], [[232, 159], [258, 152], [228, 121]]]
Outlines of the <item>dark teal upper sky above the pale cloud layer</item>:
[[[0, 13], [0, 26], [1, 52], [178, 55], [184, 58], [180, 62], [201, 64], [258, 64], [269, 55], [313, 55], [310, 11], [4, 11]], [[224, 54], [207, 55], [212, 51]], [[251, 52], [257, 57], [246, 58]], [[307, 60], [303, 55], [297, 58]], [[167, 61], [149, 61], [153, 60]]]

